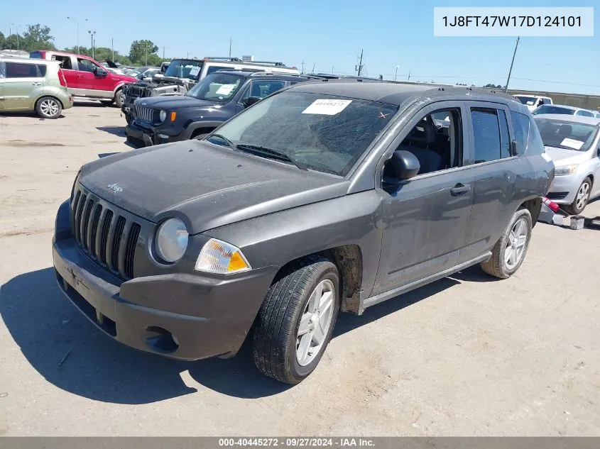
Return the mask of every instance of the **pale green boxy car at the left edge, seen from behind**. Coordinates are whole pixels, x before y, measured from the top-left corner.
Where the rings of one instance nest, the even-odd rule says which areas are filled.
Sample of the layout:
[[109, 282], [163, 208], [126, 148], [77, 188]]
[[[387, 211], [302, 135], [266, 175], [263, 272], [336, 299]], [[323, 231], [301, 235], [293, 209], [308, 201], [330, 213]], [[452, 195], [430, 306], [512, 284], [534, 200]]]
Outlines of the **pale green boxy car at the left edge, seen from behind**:
[[36, 111], [58, 118], [73, 106], [58, 62], [0, 56], [0, 111]]

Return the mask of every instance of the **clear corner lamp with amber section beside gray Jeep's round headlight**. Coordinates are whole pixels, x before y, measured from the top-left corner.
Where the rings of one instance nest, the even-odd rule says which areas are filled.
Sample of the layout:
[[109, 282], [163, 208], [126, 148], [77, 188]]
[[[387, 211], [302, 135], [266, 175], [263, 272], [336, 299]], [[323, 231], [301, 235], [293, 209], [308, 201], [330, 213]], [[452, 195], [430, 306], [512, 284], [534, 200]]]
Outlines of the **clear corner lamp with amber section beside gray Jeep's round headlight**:
[[228, 274], [251, 270], [251, 266], [239, 248], [222, 240], [211, 238], [200, 250], [195, 269]]

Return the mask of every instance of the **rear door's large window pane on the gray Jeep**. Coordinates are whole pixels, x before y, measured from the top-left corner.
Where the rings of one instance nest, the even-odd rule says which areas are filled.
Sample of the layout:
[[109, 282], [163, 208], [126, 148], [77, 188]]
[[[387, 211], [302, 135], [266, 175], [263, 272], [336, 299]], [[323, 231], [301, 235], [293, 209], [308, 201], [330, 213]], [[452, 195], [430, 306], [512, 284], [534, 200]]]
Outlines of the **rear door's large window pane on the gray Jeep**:
[[475, 140], [474, 163], [500, 159], [501, 138], [496, 109], [471, 109], [471, 118]]

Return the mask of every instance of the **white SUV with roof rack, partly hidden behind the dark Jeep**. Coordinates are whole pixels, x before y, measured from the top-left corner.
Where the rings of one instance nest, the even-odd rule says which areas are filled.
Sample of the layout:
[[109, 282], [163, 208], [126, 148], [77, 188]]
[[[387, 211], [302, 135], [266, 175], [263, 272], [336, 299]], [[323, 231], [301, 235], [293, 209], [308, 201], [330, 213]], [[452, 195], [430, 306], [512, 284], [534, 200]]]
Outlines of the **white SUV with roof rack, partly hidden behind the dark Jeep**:
[[296, 67], [287, 67], [282, 62], [246, 62], [237, 57], [205, 57], [204, 59], [175, 59], [170, 62], [164, 76], [156, 74], [150, 81], [129, 84], [124, 89], [125, 104], [121, 108], [127, 123], [131, 123], [133, 102], [148, 96], [183, 95], [207, 74], [217, 70], [254, 70], [300, 74]]

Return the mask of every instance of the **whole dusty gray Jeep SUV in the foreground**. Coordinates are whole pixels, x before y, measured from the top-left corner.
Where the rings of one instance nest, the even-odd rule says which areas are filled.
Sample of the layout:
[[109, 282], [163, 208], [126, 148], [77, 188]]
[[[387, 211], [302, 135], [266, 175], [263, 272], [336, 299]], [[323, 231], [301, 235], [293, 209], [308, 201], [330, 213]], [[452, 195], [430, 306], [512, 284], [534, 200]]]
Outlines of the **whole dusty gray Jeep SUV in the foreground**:
[[68, 298], [107, 335], [295, 384], [339, 311], [481, 264], [513, 275], [554, 177], [528, 109], [474, 89], [338, 79], [202, 140], [84, 165], [56, 217]]

